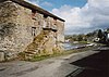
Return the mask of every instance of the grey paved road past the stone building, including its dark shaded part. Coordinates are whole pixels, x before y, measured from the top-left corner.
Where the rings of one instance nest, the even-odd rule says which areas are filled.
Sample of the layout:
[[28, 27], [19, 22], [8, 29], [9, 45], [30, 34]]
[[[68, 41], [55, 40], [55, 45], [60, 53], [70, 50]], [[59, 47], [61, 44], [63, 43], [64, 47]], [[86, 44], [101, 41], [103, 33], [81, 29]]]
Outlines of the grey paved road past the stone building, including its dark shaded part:
[[39, 62], [0, 63], [0, 77], [108, 77], [108, 51], [102, 47]]

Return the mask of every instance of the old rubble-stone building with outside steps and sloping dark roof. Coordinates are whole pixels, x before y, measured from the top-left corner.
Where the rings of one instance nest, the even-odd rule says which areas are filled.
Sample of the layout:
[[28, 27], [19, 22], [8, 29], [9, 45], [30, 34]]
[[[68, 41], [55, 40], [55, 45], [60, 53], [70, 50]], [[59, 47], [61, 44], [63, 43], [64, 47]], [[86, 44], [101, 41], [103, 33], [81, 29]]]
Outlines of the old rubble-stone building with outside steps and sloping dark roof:
[[0, 0], [0, 61], [60, 52], [64, 20], [24, 0]]

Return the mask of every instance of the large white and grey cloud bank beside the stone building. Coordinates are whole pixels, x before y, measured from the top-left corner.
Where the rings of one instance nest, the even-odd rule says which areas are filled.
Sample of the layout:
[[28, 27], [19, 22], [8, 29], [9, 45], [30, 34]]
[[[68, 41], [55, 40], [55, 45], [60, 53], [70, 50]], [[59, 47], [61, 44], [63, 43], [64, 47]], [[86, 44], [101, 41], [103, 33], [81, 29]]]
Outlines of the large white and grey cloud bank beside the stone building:
[[83, 8], [62, 5], [52, 13], [65, 20], [65, 34], [83, 34], [109, 26], [109, 0], [88, 0]]

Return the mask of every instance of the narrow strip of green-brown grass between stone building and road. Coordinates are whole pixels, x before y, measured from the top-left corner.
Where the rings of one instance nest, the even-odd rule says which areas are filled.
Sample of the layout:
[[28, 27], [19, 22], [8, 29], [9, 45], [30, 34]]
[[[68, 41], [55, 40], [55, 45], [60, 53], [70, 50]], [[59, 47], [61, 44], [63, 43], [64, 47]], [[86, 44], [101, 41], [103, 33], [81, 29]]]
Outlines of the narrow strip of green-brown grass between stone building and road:
[[97, 47], [87, 47], [87, 48], [82, 48], [82, 49], [66, 50], [66, 51], [61, 52], [61, 53], [55, 53], [55, 54], [41, 55], [41, 56], [35, 55], [32, 59], [28, 59], [26, 61], [37, 62], [37, 61], [43, 61], [43, 60], [47, 60], [47, 59], [50, 59], [50, 57], [69, 55], [69, 54], [72, 54], [72, 53], [77, 53], [77, 52], [84, 52], [84, 51], [88, 51], [88, 50], [94, 50], [95, 48], [97, 48]]

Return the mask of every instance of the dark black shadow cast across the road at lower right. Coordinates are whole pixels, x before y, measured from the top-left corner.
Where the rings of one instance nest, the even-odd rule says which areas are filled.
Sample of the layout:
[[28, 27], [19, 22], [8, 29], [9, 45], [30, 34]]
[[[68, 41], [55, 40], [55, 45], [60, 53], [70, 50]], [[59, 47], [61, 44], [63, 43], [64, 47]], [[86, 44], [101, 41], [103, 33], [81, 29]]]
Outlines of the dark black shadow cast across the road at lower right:
[[80, 69], [66, 77], [109, 77], [109, 49], [97, 51], [100, 52], [71, 63]]

